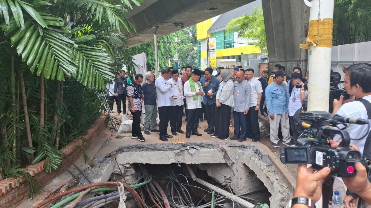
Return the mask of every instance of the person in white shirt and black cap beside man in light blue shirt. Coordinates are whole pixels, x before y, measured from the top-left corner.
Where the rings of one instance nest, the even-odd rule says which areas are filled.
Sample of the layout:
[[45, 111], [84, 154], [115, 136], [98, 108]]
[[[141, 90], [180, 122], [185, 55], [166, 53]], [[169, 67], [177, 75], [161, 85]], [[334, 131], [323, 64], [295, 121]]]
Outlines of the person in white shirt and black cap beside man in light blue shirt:
[[[300, 73], [290, 74], [290, 84], [292, 84], [294, 87], [292, 88], [292, 92], [289, 99], [289, 120], [290, 127], [292, 129], [292, 137], [294, 144], [297, 144], [296, 140], [298, 140], [299, 132], [295, 130], [295, 121], [293, 119], [293, 116], [295, 112], [302, 107], [300, 101], [301, 88], [296, 88], [296, 84], [303, 84], [302, 78], [303, 76]], [[308, 91], [305, 91], [305, 94], [307, 94], [307, 92]]]

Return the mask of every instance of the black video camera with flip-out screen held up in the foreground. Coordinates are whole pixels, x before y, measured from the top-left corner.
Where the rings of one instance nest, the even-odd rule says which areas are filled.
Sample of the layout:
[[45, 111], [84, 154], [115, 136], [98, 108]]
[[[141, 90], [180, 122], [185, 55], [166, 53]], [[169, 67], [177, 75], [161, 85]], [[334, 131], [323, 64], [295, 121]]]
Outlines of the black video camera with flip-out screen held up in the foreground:
[[[343, 124], [369, 124], [368, 120], [357, 118], [344, 118], [340, 115], [332, 115], [324, 111], [312, 111], [300, 114], [299, 122], [305, 130], [303, 136], [298, 139], [299, 147], [282, 147], [280, 158], [284, 164], [312, 164], [315, 170], [324, 167], [331, 169], [333, 177], [351, 177], [355, 174], [354, 163], [361, 161], [367, 166], [370, 173], [371, 160], [362, 158], [359, 151], [350, 144], [350, 138], [344, 129], [331, 128], [331, 125]], [[308, 122], [308, 123], [306, 123]], [[367, 132], [368, 133], [368, 132]], [[334, 135], [340, 135], [342, 141], [337, 148], [331, 148], [328, 139]], [[363, 138], [363, 137], [362, 137]]]

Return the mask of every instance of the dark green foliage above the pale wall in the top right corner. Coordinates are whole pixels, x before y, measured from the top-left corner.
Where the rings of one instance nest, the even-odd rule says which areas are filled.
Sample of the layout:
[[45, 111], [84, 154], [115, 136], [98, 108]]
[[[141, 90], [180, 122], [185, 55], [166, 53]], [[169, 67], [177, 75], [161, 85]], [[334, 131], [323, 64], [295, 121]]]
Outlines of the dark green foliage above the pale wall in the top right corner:
[[371, 41], [371, 1], [336, 0], [333, 45]]

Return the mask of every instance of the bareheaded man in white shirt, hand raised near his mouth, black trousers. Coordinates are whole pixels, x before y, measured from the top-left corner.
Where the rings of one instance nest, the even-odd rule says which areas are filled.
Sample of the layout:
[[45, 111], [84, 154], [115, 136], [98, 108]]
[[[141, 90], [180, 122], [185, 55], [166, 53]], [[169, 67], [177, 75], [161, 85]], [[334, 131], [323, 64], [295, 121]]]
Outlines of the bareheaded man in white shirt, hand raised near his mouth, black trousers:
[[157, 105], [158, 105], [158, 116], [160, 117], [160, 140], [168, 141], [167, 138], [173, 138], [173, 136], [167, 134], [167, 127], [170, 120], [170, 107], [171, 107], [171, 92], [170, 88], [173, 87], [166, 80], [170, 77], [170, 70], [168, 68], [163, 68], [161, 71], [161, 76], [159, 76], [156, 81], [156, 93], [157, 93]]

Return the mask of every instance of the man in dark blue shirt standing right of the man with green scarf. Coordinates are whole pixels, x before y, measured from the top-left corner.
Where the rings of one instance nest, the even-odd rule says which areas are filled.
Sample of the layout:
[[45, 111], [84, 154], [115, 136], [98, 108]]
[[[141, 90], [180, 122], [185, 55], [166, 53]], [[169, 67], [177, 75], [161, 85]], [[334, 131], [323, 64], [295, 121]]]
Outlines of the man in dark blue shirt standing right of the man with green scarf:
[[208, 127], [204, 130], [207, 134], [214, 133], [214, 116], [215, 116], [215, 108], [216, 108], [216, 93], [219, 89], [219, 80], [213, 77], [213, 69], [211, 67], [207, 67], [205, 70], [205, 76], [200, 79], [200, 83], [202, 89], [205, 93], [204, 96], [204, 106], [205, 106], [205, 114], [207, 117], [207, 125]]

